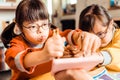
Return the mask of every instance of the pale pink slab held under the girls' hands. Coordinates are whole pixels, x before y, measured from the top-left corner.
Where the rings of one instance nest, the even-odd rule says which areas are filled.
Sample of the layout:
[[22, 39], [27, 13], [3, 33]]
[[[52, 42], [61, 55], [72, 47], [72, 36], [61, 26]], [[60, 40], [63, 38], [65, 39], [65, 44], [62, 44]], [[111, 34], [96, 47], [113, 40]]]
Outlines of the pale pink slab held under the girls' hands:
[[74, 68], [85, 69], [89, 71], [102, 62], [102, 60], [103, 57], [98, 54], [93, 54], [88, 57], [53, 59], [51, 72], [54, 74], [61, 70]]

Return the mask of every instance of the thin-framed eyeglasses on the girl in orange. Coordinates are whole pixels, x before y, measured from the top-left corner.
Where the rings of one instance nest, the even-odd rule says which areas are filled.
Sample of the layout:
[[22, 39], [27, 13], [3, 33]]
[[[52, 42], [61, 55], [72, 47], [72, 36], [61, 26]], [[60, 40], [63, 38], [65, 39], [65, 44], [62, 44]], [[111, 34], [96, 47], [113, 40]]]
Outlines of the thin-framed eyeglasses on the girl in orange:
[[51, 23], [47, 23], [47, 24], [42, 24], [41, 26], [38, 24], [31, 24], [29, 26], [24, 26], [24, 28], [29, 29], [31, 32], [37, 32], [40, 28], [42, 28], [43, 30], [48, 30], [51, 26]]

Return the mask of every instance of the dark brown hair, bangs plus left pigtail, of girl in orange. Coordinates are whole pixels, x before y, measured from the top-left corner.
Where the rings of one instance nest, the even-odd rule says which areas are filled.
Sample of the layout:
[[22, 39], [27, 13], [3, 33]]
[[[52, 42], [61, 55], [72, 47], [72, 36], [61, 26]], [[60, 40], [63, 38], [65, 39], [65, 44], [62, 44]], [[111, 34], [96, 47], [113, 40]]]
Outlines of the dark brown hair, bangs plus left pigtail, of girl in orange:
[[22, 0], [16, 9], [15, 22], [8, 25], [1, 34], [3, 44], [8, 48], [10, 40], [17, 36], [13, 32], [15, 24], [22, 31], [24, 21], [34, 22], [44, 19], [49, 19], [49, 15], [41, 0]]

